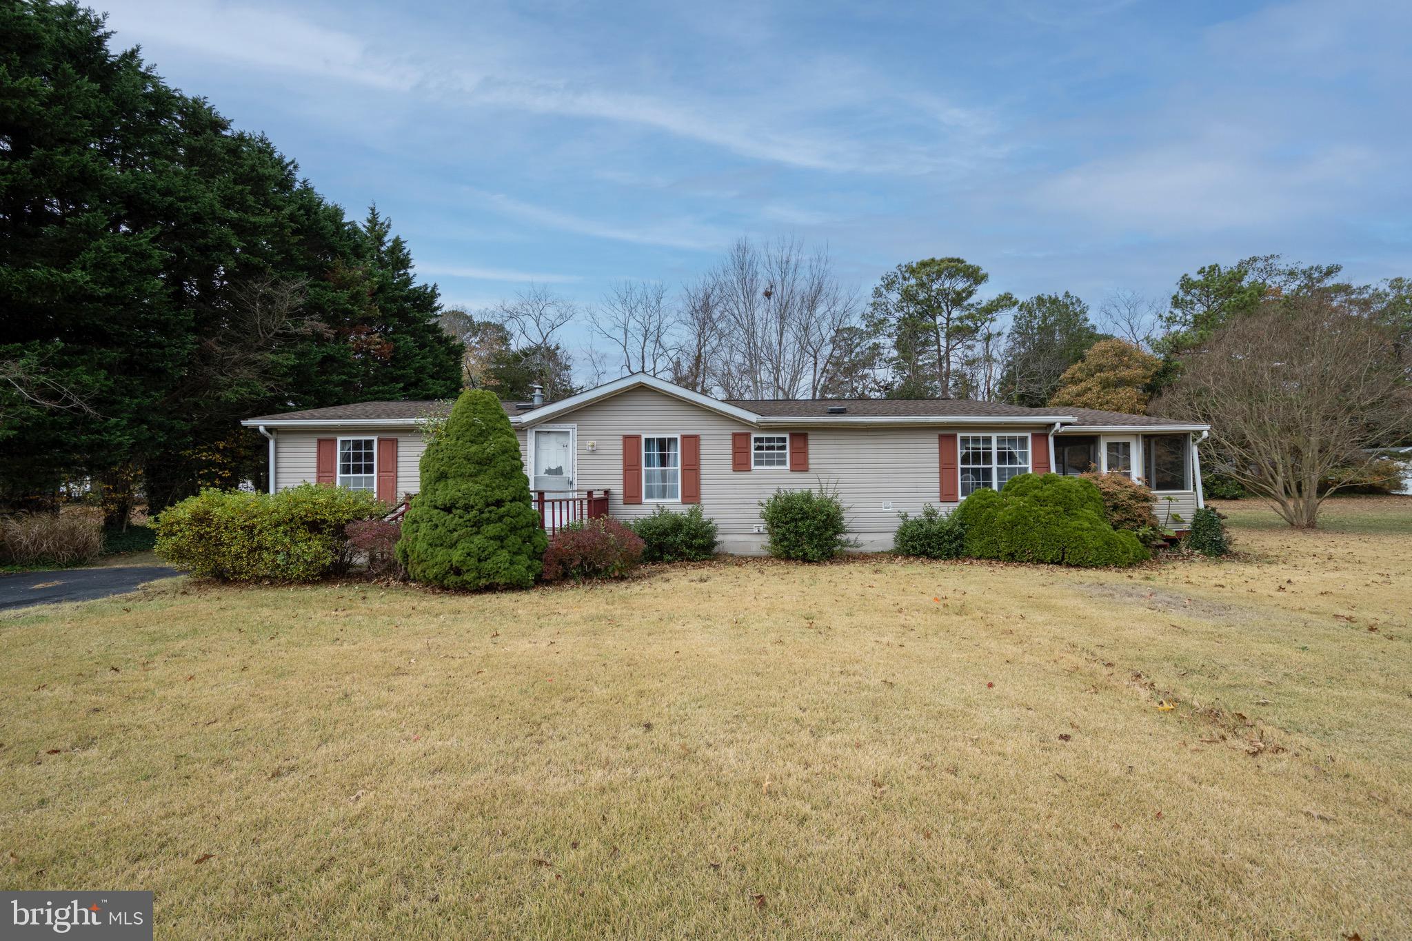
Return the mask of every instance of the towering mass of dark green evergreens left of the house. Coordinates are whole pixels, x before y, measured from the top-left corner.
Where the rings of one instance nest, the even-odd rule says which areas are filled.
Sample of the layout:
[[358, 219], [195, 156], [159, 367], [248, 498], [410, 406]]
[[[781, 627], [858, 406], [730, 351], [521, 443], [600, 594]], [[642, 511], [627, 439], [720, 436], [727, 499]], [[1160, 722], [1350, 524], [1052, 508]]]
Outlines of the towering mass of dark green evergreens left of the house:
[[88, 405], [3, 408], [0, 499], [144, 474], [160, 508], [217, 454], [263, 473], [244, 415], [453, 394], [436, 288], [388, 226], [110, 37], [75, 4], [0, 4], [0, 364]]

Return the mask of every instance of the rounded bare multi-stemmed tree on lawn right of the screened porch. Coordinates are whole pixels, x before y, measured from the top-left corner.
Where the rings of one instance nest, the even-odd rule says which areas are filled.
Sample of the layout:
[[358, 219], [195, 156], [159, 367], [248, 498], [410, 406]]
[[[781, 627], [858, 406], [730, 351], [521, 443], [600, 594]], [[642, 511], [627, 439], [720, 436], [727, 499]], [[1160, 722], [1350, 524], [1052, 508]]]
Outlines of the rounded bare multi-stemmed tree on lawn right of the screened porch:
[[1216, 468], [1313, 528], [1323, 499], [1365, 475], [1367, 449], [1412, 425], [1406, 356], [1327, 291], [1267, 300], [1189, 354], [1155, 409], [1209, 423]]

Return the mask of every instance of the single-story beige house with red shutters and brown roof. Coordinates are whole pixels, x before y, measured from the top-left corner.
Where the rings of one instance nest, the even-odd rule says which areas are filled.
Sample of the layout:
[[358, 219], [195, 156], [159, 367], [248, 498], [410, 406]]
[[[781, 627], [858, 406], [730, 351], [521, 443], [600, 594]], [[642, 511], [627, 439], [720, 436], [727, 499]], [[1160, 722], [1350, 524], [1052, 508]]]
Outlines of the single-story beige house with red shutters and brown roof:
[[[418, 490], [422, 423], [449, 402], [359, 402], [241, 422], [268, 439], [270, 488]], [[634, 374], [552, 403], [505, 402], [548, 528], [699, 504], [724, 552], [764, 552], [760, 501], [825, 482], [861, 549], [888, 549], [898, 514], [950, 509], [1017, 474], [1123, 471], [1152, 487], [1172, 529], [1202, 506], [1209, 426], [1067, 406], [969, 399], [731, 399]]]

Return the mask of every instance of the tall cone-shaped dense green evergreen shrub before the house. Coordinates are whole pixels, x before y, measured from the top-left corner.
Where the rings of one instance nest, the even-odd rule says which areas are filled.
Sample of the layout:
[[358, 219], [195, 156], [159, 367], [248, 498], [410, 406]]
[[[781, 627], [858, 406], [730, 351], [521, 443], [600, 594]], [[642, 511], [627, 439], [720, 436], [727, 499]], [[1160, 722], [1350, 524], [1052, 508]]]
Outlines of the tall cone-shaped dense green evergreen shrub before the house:
[[530, 501], [520, 443], [494, 394], [460, 394], [421, 468], [422, 490], [397, 543], [407, 574], [443, 588], [532, 585], [548, 539]]

